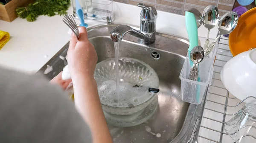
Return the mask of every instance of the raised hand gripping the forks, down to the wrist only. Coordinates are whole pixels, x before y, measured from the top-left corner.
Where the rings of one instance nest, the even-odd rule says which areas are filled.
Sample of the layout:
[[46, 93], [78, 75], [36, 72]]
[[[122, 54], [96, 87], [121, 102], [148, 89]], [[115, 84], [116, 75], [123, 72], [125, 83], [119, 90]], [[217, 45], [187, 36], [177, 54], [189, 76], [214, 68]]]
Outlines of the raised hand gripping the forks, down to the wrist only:
[[85, 27], [79, 27], [80, 36], [76, 39], [72, 32], [69, 49], [67, 51], [67, 62], [71, 79], [93, 78], [96, 63], [98, 61], [97, 53], [94, 46], [87, 37]]

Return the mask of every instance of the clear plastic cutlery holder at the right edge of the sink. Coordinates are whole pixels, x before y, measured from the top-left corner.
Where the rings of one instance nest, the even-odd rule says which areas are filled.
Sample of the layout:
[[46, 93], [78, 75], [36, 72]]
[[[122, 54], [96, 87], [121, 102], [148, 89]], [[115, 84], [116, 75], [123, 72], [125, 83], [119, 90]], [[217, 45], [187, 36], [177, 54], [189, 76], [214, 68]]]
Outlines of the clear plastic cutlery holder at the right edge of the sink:
[[190, 64], [189, 56], [183, 64], [180, 72], [180, 98], [182, 101], [201, 104], [204, 93], [209, 82], [212, 79], [214, 58], [204, 57], [203, 61], [198, 65], [198, 81], [189, 80]]

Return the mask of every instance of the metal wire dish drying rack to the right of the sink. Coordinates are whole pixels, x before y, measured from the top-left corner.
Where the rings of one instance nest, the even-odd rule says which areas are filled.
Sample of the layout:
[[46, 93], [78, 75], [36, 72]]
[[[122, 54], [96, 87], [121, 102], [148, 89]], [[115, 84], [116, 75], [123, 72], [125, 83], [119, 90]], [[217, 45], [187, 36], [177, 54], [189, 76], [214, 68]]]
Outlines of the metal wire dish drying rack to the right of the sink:
[[[221, 69], [232, 57], [228, 38], [221, 36], [212, 80], [201, 104], [201, 115], [198, 116], [192, 136], [187, 143], [239, 143], [224, 130], [224, 123], [236, 115], [244, 105], [242, 101], [231, 95], [221, 82]], [[242, 142], [246, 137], [251, 137], [250, 143], [256, 142], [256, 136], [251, 135], [243, 135], [240, 141]]]

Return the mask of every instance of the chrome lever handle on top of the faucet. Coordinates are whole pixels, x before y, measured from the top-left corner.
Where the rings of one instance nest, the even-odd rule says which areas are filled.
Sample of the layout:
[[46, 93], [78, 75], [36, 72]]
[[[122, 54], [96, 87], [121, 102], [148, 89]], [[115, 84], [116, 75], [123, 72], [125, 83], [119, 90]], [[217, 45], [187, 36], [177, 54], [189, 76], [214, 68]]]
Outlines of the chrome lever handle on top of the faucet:
[[141, 18], [154, 20], [157, 18], [157, 10], [153, 6], [145, 5], [144, 3], [138, 3], [137, 6], [142, 8], [140, 13]]

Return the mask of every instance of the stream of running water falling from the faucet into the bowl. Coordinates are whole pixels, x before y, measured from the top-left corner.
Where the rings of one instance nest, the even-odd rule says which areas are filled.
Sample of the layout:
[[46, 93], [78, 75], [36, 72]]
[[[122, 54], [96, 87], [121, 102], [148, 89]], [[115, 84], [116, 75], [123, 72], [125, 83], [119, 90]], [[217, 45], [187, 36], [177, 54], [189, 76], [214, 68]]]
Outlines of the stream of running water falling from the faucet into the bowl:
[[119, 55], [119, 43], [120, 42], [114, 42], [115, 47], [115, 65], [116, 65], [116, 98], [115, 101], [119, 101], [119, 67], [118, 67], [118, 55]]

